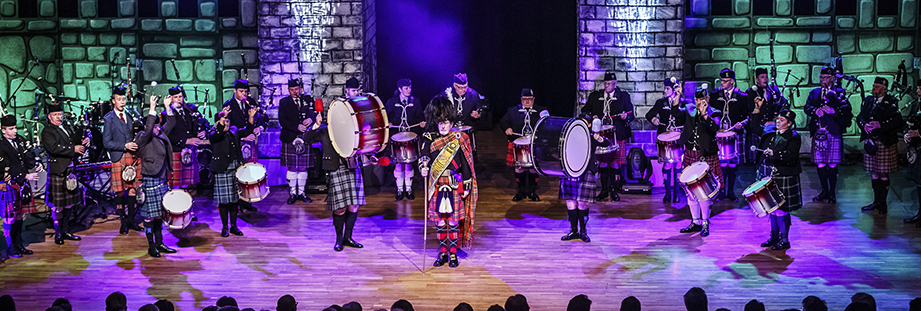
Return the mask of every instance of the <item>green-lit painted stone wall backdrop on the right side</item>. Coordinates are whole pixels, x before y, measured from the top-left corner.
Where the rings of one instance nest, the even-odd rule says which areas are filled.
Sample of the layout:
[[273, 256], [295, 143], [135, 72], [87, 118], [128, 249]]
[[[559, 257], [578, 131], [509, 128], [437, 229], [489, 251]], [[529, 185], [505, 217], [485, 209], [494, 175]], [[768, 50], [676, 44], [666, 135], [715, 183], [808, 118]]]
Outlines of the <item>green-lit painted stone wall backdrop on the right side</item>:
[[[899, 0], [895, 11], [879, 8], [872, 0], [859, 0], [856, 7], [835, 7], [832, 0], [816, 0], [810, 10], [797, 9], [790, 0], [768, 1], [767, 7], [749, 0], [688, 1], [685, 75], [695, 82], [688, 89], [717, 81], [725, 67], [736, 71], [740, 88], [748, 88], [753, 83], [751, 66], [770, 66], [771, 38], [777, 83], [786, 81], [785, 95], [793, 101], [800, 125], [805, 124], [802, 107], [806, 96], [818, 87], [819, 71], [833, 57], [840, 55], [845, 74], [864, 81], [867, 94], [876, 76], [887, 77], [891, 83], [902, 60], [910, 71], [909, 83], [917, 77], [917, 0]], [[730, 7], [722, 7], [726, 4]], [[891, 12], [897, 13], [885, 15]], [[791, 92], [790, 86], [799, 87], [799, 92]], [[856, 115], [860, 95], [851, 94]], [[902, 105], [907, 102], [906, 97]], [[852, 127], [849, 132], [853, 135], [856, 130]], [[849, 152], [857, 152], [856, 141], [848, 141]]]

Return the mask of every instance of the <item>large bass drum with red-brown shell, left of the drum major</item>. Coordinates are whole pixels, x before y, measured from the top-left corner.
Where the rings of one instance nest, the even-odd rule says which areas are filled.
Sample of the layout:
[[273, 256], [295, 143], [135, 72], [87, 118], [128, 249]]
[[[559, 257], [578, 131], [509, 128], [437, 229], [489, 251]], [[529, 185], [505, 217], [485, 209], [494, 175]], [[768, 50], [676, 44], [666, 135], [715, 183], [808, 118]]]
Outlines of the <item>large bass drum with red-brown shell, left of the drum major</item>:
[[374, 94], [336, 99], [327, 113], [329, 138], [343, 158], [381, 152], [390, 139], [387, 111]]

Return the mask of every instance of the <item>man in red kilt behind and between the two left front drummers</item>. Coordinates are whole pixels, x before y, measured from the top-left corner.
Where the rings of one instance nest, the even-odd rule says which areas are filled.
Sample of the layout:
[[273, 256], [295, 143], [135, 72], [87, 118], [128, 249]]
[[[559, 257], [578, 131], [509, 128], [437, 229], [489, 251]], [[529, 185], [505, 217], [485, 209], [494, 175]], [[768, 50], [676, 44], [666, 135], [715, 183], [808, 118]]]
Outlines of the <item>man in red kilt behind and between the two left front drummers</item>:
[[[173, 144], [172, 154], [172, 173], [169, 176], [169, 184], [173, 189], [188, 189], [190, 186], [198, 184], [198, 161], [191, 161], [188, 164], [182, 163], [182, 150], [185, 148], [197, 148], [205, 139], [204, 129], [198, 128], [197, 120], [192, 117], [192, 111], [187, 109], [183, 102], [182, 87], [174, 86], [169, 89], [169, 103], [173, 116], [176, 118], [176, 124], [167, 132], [170, 142]], [[165, 124], [167, 119], [166, 111], [162, 112], [163, 121], [160, 125]], [[186, 151], [189, 152], [189, 151]]]

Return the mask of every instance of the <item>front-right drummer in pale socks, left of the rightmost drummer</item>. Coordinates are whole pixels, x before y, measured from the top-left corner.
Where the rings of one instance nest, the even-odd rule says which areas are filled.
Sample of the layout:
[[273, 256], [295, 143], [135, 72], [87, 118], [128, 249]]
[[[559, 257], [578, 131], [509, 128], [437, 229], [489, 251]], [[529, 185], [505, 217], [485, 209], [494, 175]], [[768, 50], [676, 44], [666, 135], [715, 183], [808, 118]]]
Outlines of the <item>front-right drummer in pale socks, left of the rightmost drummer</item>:
[[[681, 129], [679, 143], [684, 145], [682, 169], [696, 162], [705, 162], [717, 180], [722, 180], [723, 173], [719, 166], [719, 147], [716, 145], [716, 133], [719, 131], [719, 118], [722, 113], [710, 107], [710, 93], [704, 83], [694, 92], [694, 106], [688, 106], [685, 114], [684, 128]], [[697, 201], [688, 193], [688, 209], [691, 211], [691, 224], [681, 229], [681, 233], [700, 232], [700, 236], [710, 235], [710, 199]]]

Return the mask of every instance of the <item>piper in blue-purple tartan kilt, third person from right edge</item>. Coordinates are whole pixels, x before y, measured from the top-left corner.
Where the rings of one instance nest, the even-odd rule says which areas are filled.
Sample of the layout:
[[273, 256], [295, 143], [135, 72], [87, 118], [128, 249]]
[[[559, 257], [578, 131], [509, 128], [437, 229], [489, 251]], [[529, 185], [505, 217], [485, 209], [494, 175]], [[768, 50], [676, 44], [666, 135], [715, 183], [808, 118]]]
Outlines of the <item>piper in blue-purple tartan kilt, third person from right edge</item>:
[[[809, 116], [809, 131], [812, 133], [812, 159], [818, 166], [819, 183], [822, 192], [812, 201], [837, 202], [838, 163], [844, 149], [842, 135], [851, 126], [854, 114], [851, 104], [839, 96], [844, 89], [836, 87], [835, 70], [822, 67], [819, 75], [821, 87], [809, 92], [803, 111]], [[822, 139], [824, 138], [824, 139]]]

